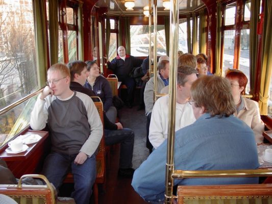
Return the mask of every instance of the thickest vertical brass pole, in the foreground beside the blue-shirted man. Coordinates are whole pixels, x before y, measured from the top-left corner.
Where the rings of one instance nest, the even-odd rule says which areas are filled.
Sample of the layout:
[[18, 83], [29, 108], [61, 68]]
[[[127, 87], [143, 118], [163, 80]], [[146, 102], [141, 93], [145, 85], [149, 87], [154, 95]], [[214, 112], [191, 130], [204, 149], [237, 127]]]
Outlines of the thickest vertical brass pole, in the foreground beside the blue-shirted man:
[[171, 0], [170, 8], [170, 70], [169, 70], [169, 107], [168, 107], [168, 139], [167, 160], [165, 175], [165, 203], [170, 204], [174, 179], [174, 142], [175, 142], [175, 119], [176, 119], [176, 84], [178, 65], [178, 31], [179, 31], [179, 1]]

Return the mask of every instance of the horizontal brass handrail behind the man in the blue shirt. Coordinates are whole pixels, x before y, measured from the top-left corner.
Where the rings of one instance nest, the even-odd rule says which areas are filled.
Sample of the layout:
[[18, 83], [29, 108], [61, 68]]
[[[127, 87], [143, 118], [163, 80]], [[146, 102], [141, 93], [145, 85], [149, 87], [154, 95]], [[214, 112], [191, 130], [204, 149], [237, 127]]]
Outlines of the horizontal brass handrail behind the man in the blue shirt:
[[173, 179], [202, 178], [202, 177], [254, 177], [254, 176], [272, 176], [272, 169], [255, 170], [201, 170], [201, 171], [183, 171], [174, 170]]

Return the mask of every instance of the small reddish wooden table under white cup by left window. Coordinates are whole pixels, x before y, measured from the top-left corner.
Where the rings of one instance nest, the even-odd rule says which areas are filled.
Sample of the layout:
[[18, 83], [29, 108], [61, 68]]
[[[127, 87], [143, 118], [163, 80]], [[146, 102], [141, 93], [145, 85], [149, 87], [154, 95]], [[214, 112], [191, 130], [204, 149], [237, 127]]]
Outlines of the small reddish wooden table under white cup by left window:
[[[20, 152], [18, 154], [8, 154], [5, 150], [1, 152], [0, 157], [5, 161], [24, 161], [28, 159], [34, 152], [35, 149], [39, 148], [43, 141], [48, 137], [48, 132], [45, 131], [32, 131], [28, 130], [23, 133], [23, 135], [35, 134], [41, 136], [41, 139], [34, 143], [28, 144], [29, 148], [26, 151]], [[8, 144], [5, 145], [5, 149], [8, 148]]]

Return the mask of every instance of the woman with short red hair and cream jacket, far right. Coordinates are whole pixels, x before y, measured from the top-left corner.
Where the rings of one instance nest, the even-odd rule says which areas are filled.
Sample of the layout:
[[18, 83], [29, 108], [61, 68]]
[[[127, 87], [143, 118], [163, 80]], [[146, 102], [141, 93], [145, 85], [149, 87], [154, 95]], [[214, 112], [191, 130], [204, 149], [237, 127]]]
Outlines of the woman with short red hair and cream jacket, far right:
[[254, 131], [256, 142], [258, 144], [262, 143], [264, 123], [261, 120], [258, 103], [242, 97], [245, 94], [245, 86], [248, 83], [248, 78], [239, 70], [230, 70], [226, 78], [231, 83], [232, 96], [236, 108], [234, 115], [248, 124]]

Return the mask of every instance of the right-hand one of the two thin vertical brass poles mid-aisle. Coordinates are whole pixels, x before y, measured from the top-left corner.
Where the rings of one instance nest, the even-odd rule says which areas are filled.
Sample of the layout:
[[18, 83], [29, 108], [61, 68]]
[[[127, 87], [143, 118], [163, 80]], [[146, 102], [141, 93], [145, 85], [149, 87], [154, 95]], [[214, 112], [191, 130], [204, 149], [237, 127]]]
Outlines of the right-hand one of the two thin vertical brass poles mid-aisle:
[[158, 84], [158, 78], [157, 78], [157, 0], [154, 0], [153, 4], [153, 21], [154, 21], [154, 64], [153, 64], [153, 71], [154, 71], [154, 101], [157, 100], [157, 84]]

